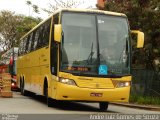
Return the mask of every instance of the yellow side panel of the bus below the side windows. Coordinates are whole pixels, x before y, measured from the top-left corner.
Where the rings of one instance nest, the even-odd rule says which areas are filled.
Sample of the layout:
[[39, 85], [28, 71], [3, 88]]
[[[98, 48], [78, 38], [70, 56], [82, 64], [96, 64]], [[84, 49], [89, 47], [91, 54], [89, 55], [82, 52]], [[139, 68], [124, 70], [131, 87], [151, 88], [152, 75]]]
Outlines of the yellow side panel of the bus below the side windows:
[[20, 77], [24, 77], [25, 90], [43, 95], [44, 78], [50, 75], [49, 55], [49, 48], [44, 47], [18, 58], [17, 75], [19, 88]]

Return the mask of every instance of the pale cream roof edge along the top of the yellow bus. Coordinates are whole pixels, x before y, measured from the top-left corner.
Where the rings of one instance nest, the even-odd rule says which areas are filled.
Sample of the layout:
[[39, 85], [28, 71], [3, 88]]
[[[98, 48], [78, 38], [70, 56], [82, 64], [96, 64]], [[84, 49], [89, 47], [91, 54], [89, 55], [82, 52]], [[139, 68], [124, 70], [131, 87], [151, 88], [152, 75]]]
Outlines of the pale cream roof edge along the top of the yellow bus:
[[36, 25], [33, 29], [31, 29], [28, 33], [26, 33], [24, 36], [22, 36], [20, 39], [23, 39], [25, 36], [27, 36], [29, 33], [31, 33], [34, 29], [42, 25], [44, 22], [46, 22], [48, 19], [50, 19], [53, 15], [57, 13], [61, 13], [63, 11], [68, 12], [81, 12], [81, 13], [99, 13], [99, 14], [106, 14], [106, 15], [113, 15], [113, 16], [123, 16], [126, 17], [123, 13], [117, 13], [117, 12], [111, 12], [111, 11], [103, 11], [103, 10], [96, 10], [96, 9], [77, 9], [77, 8], [61, 8], [56, 10], [53, 14], [50, 15], [47, 19], [40, 22], [38, 25]]

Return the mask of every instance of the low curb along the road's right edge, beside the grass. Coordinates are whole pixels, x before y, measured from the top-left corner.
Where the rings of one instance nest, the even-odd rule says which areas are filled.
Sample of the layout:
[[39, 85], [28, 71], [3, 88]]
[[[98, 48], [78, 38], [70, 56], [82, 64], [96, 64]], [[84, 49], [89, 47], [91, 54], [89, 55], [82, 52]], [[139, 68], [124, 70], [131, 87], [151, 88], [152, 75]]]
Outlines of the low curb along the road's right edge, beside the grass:
[[129, 104], [129, 103], [116, 103], [111, 102], [110, 104], [118, 105], [118, 106], [125, 106], [130, 108], [139, 108], [139, 109], [145, 109], [145, 110], [152, 110], [152, 111], [160, 111], [160, 107], [154, 107], [154, 106], [144, 106], [144, 105], [137, 105], [137, 104]]

